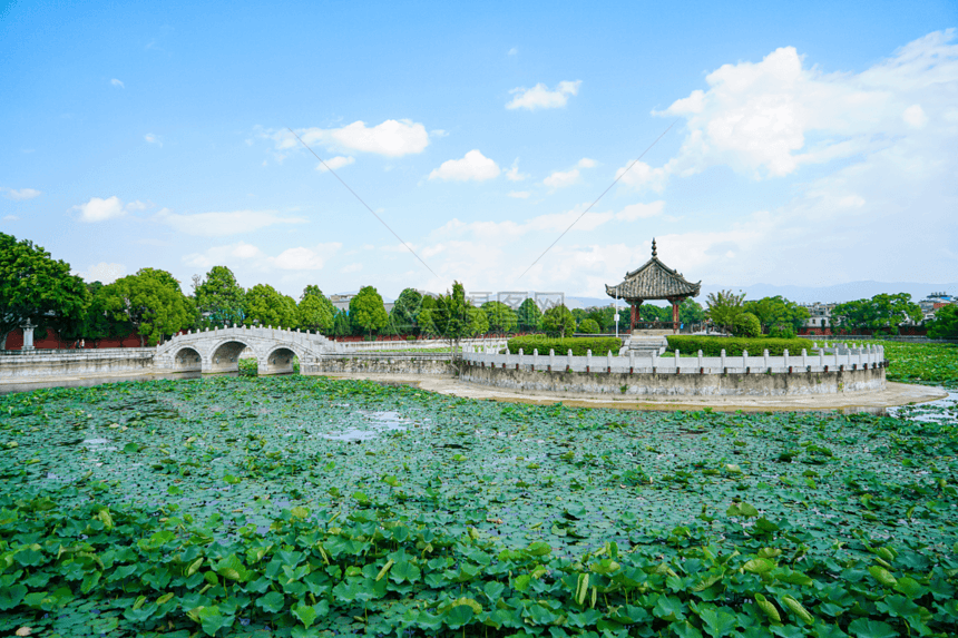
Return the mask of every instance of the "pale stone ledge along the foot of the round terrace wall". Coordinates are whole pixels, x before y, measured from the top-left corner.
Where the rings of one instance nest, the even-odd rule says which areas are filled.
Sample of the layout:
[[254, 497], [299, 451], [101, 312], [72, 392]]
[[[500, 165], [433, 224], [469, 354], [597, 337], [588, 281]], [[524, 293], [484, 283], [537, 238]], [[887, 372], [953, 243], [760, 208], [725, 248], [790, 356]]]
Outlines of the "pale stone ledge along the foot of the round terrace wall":
[[910, 385], [889, 382], [879, 392], [849, 392], [842, 394], [808, 394], [801, 396], [656, 396], [616, 397], [584, 396], [581, 394], [522, 393], [498, 387], [466, 383], [452, 376], [424, 376], [401, 374], [328, 374], [339, 379], [366, 379], [380, 383], [418, 385], [422, 390], [463, 396], [468, 399], [491, 399], [514, 403], [551, 404], [561, 401], [566, 405], [581, 408], [615, 408], [622, 410], [701, 410], [713, 408], [721, 411], [743, 410], [749, 412], [796, 411], [796, 410], [841, 410], [844, 412], [878, 413], [886, 408], [927, 403], [948, 397], [938, 387]]

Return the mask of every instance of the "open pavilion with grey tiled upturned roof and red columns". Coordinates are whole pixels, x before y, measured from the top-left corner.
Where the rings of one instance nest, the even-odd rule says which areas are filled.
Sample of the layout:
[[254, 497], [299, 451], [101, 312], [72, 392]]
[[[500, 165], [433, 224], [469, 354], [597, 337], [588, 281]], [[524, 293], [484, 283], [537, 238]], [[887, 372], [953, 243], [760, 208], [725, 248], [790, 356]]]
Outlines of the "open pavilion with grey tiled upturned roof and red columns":
[[635, 331], [639, 321], [638, 307], [647, 300], [667, 300], [672, 303], [672, 332], [678, 332], [678, 306], [688, 297], [696, 297], [702, 282], [693, 284], [658, 261], [655, 239], [652, 241], [652, 258], [641, 268], [626, 273], [625, 279], [616, 285], [606, 285], [605, 292], [616, 300], [625, 300], [632, 306], [629, 330]]

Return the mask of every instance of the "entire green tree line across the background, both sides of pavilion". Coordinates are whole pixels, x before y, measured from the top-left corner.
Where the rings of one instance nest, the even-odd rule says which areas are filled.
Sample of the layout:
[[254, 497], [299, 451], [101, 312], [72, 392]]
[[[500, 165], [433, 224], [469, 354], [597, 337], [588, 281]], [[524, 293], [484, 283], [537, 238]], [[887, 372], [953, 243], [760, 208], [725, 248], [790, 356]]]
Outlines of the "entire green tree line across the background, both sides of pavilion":
[[[809, 318], [808, 308], [781, 296], [744, 301], [731, 291], [712, 293], [707, 308], [687, 298], [680, 306], [680, 321], [710, 321], [736, 336], [794, 336]], [[622, 308], [628, 313], [628, 308]], [[671, 322], [672, 308], [643, 304], [644, 322]], [[874, 334], [897, 332], [903, 322], [920, 323], [918, 304], [906, 293], [880, 294], [870, 300], [838, 304], [831, 312], [833, 332]], [[315, 285], [303, 289], [300, 300], [268, 284], [244, 289], [226, 266], [214, 266], [205, 277], [194, 275], [193, 291], [185, 294], [168, 272], [140, 268], [110, 284], [85, 282], [63, 261], [53, 259], [32, 242], [0, 233], [0, 350], [13, 330], [32, 323], [42, 338], [55, 330], [66, 341], [94, 343], [136, 333], [140, 345], [155, 345], [184, 330], [228, 325], [273, 326], [310, 330], [330, 336], [407, 335], [458, 341], [480, 334], [545, 332], [556, 336], [615, 331], [615, 308], [554, 306], [542, 313], [535, 301], [518, 310], [500, 302], [473, 306], [458, 282], [446, 295], [423, 295], [405, 288], [387, 312], [382, 296], [364, 286], [350, 301], [349, 310], [336, 308]], [[628, 325], [628, 316], [619, 326]], [[958, 337], [958, 306], [939, 308], [929, 325], [929, 336]]]

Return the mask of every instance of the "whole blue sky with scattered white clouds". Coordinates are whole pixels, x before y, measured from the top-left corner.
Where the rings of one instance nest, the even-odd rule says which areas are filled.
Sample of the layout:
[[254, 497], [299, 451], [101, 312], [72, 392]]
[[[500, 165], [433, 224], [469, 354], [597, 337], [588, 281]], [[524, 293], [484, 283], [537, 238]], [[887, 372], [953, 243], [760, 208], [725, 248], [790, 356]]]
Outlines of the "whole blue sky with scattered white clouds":
[[954, 282], [956, 27], [933, 1], [4, 4], [0, 232], [90, 279], [226, 265], [296, 297], [597, 297], [653, 237], [710, 286]]

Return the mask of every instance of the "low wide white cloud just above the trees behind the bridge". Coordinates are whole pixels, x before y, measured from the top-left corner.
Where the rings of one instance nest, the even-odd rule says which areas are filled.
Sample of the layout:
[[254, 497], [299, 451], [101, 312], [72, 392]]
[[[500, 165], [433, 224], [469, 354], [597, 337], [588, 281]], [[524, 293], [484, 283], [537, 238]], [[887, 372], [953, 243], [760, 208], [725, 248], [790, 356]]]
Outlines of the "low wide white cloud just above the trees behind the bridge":
[[226, 246], [213, 246], [203, 253], [192, 253], [183, 257], [183, 263], [198, 268], [227, 265], [237, 269], [264, 273], [273, 271], [319, 271], [342, 247], [332, 242], [315, 246], [286, 248], [275, 257], [245, 242]]

